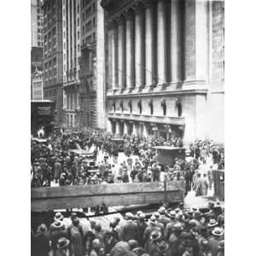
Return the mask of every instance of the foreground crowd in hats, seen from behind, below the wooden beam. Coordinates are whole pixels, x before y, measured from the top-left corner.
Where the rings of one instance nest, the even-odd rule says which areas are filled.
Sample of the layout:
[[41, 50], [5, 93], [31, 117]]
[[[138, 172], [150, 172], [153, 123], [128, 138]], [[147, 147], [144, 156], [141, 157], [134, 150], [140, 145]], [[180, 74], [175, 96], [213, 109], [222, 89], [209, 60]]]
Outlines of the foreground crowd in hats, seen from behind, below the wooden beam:
[[[71, 213], [65, 224], [61, 212], [52, 224], [32, 230], [32, 256], [223, 256], [224, 208], [210, 201], [201, 209], [161, 206], [146, 215], [125, 213], [108, 227]], [[120, 224], [122, 223], [122, 224]]]

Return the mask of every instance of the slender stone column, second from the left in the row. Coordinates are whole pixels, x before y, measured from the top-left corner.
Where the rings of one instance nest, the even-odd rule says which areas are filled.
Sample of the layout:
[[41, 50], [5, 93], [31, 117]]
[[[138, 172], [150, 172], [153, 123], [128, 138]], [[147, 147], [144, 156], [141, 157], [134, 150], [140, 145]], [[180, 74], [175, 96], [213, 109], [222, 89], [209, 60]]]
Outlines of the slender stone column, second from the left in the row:
[[118, 78], [119, 89], [125, 86], [125, 20], [121, 16], [118, 22]]

